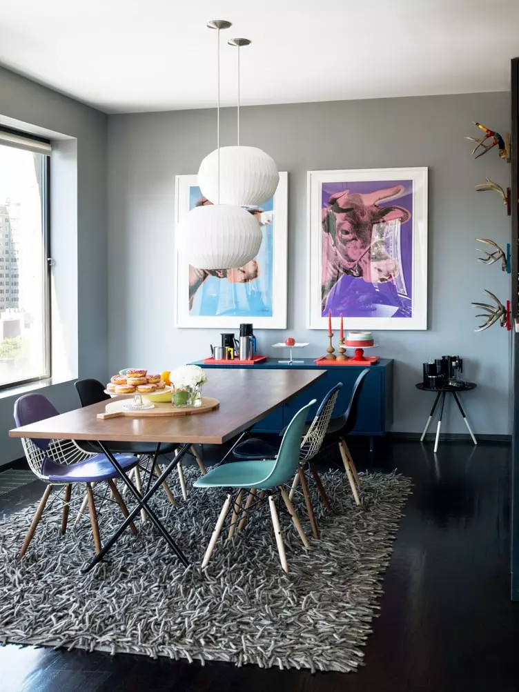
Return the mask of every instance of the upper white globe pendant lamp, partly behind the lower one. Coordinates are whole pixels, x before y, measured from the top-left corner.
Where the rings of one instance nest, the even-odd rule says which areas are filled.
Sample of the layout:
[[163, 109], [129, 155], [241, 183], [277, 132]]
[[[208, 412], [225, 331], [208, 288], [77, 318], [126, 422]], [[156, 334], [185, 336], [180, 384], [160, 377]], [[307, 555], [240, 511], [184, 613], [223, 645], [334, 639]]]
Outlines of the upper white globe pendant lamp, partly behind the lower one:
[[198, 172], [200, 190], [204, 197], [214, 201], [219, 194], [222, 204], [259, 206], [271, 199], [280, 181], [274, 159], [258, 147], [239, 144], [239, 49], [248, 46], [248, 39], [230, 39], [228, 44], [237, 48], [238, 101], [237, 146], [220, 147], [203, 159]]

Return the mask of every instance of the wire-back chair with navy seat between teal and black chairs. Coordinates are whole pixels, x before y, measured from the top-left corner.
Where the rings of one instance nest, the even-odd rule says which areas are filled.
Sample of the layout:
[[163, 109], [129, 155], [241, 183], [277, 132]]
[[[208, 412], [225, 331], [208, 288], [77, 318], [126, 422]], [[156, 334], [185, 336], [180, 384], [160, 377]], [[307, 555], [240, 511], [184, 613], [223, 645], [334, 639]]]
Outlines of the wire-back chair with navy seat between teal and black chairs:
[[[316, 516], [313, 511], [313, 505], [309, 495], [307, 477], [305, 473], [307, 470], [311, 472], [326, 509], [331, 511], [331, 504], [329, 502], [328, 495], [326, 494], [325, 488], [322, 485], [320, 475], [315, 464], [313, 463], [313, 459], [315, 459], [320, 452], [322, 442], [327, 434], [331, 415], [334, 412], [338, 394], [342, 387], [343, 383], [339, 382], [333, 388], [331, 388], [331, 390], [329, 390], [329, 392], [325, 395], [325, 398], [322, 399], [313, 421], [304, 424], [304, 437], [301, 441], [299, 453], [299, 468], [295, 473], [292, 488], [289, 494], [289, 498], [292, 500], [296, 487], [299, 483], [301, 483], [304, 504], [306, 504], [307, 507], [312, 534], [315, 538], [319, 538], [319, 529]], [[237, 445], [233, 453], [237, 459], [242, 459], [243, 461], [260, 461], [261, 459], [275, 456], [277, 454], [277, 448], [269, 445], [261, 439], [253, 437]]]

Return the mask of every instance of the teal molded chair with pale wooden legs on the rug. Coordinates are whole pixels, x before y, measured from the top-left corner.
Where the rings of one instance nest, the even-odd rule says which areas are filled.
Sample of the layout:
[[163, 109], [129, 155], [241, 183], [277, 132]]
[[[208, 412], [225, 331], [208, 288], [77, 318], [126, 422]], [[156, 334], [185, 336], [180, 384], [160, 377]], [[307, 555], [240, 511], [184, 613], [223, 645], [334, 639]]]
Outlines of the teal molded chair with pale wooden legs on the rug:
[[[268, 496], [268, 507], [271, 511], [272, 525], [274, 527], [275, 540], [277, 544], [277, 552], [280, 554], [280, 562], [283, 570], [288, 574], [289, 565], [286, 562], [286, 554], [284, 551], [284, 543], [281, 535], [280, 520], [277, 516], [275, 508], [275, 491], [279, 490], [283, 498], [286, 509], [292, 518], [293, 525], [303, 542], [304, 547], [309, 547], [307, 536], [302, 530], [301, 522], [298, 515], [295, 513], [293, 504], [289, 499], [289, 495], [283, 487], [283, 484], [291, 481], [294, 473], [298, 470], [301, 439], [304, 430], [304, 422], [307, 419], [309, 408], [316, 403], [313, 399], [307, 406], [303, 406], [290, 421], [289, 426], [283, 435], [280, 450], [275, 459], [262, 459], [259, 461], [249, 462], [233, 462], [231, 464], [221, 464], [212, 468], [208, 473], [197, 481], [194, 486], [197, 488], [236, 488], [238, 494], [233, 507], [233, 514], [230, 520], [229, 538], [233, 537], [235, 527], [239, 522], [238, 530], [241, 531], [246, 522], [247, 512], [251, 511], [252, 503], [255, 500], [257, 491], [261, 491], [262, 495], [266, 493]], [[248, 497], [242, 513], [242, 498], [244, 491], [248, 493]], [[232, 493], [229, 493], [221, 508], [220, 516], [215, 526], [215, 531], [212, 532], [211, 540], [203, 556], [202, 569], [207, 567], [212, 552], [221, 534], [221, 529], [230, 510]], [[261, 499], [258, 506], [263, 504]], [[242, 513], [241, 518], [239, 514]]]

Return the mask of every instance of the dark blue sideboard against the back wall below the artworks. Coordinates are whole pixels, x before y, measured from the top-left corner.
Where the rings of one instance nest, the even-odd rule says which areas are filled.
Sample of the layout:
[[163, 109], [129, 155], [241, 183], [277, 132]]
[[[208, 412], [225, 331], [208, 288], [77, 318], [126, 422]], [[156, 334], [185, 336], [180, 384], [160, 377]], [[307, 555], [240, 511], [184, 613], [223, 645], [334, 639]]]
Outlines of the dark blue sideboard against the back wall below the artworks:
[[[256, 365], [204, 365], [203, 361], [196, 361], [194, 365], [200, 365], [205, 370], [214, 367], [225, 367], [234, 369], [238, 367], [253, 367], [255, 370], [268, 368], [270, 370], [281, 370], [291, 367], [296, 370], [326, 370], [324, 377], [318, 379], [299, 394], [280, 406], [270, 415], [257, 423], [253, 430], [255, 432], [280, 432], [284, 426], [288, 425], [293, 415], [309, 399], [317, 399], [316, 405], [311, 409], [312, 418], [317, 410], [317, 406], [325, 397], [325, 394], [338, 382], [343, 383], [336, 403], [335, 412], [337, 415], [343, 413], [349, 403], [352, 388], [358, 374], [364, 369], [362, 365], [316, 365], [312, 358], [304, 358], [304, 362], [298, 365], [286, 365], [277, 362], [277, 358], [267, 358], [264, 363]], [[390, 428], [393, 421], [393, 361], [388, 358], [381, 358], [376, 365], [369, 365], [370, 374], [365, 379], [361, 400], [358, 406], [358, 419], [352, 435], [385, 435], [385, 431]]]

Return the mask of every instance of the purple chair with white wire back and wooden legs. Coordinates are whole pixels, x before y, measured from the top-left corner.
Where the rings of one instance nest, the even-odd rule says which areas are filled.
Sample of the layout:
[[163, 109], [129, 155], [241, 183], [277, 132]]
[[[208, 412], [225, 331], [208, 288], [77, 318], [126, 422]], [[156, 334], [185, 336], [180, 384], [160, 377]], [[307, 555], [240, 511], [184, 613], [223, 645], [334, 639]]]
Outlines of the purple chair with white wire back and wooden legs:
[[[48, 401], [42, 394], [26, 394], [15, 401], [15, 422], [17, 426], [26, 426], [31, 423], [37, 423], [46, 418], [52, 418], [59, 415], [59, 412], [54, 408], [52, 403]], [[93, 484], [108, 481], [110, 489], [113, 493], [113, 498], [118, 503], [122, 514], [125, 518], [128, 516], [128, 510], [124, 500], [113, 482], [118, 473], [109, 462], [109, 459], [104, 454], [92, 454], [85, 452], [73, 440], [62, 439], [29, 439], [22, 437], [21, 444], [24, 446], [27, 462], [31, 471], [39, 480], [47, 484], [42, 500], [40, 500], [33, 521], [24, 545], [22, 545], [17, 560], [24, 557], [26, 550], [32, 540], [39, 520], [47, 504], [49, 495], [55, 485], [64, 485], [64, 506], [62, 513], [62, 534], [66, 531], [66, 525], [69, 519], [69, 505], [71, 502], [72, 484], [85, 483], [86, 497], [89, 503], [90, 521], [92, 526], [93, 541], [95, 552], [101, 551], [101, 539], [99, 534], [98, 516], [95, 511], [95, 502], [93, 498]], [[134, 455], [120, 454], [116, 455], [118, 462], [122, 468], [133, 468], [138, 459]], [[137, 529], [132, 523], [130, 525], [132, 533], [136, 534]]]

